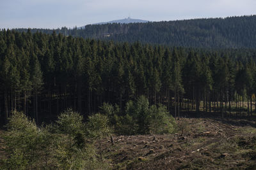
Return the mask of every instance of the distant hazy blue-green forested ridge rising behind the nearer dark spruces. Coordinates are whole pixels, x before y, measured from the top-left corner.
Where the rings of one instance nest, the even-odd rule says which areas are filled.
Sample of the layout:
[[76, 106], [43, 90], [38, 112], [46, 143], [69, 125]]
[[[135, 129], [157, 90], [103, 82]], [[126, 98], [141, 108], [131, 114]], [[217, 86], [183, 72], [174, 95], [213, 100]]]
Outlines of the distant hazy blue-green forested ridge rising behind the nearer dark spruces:
[[[86, 25], [83, 29], [56, 29], [56, 33], [81, 38], [150, 43], [196, 48], [255, 48], [256, 15], [203, 18], [169, 22]], [[26, 31], [27, 29], [16, 29]], [[51, 29], [31, 32], [51, 34]]]

